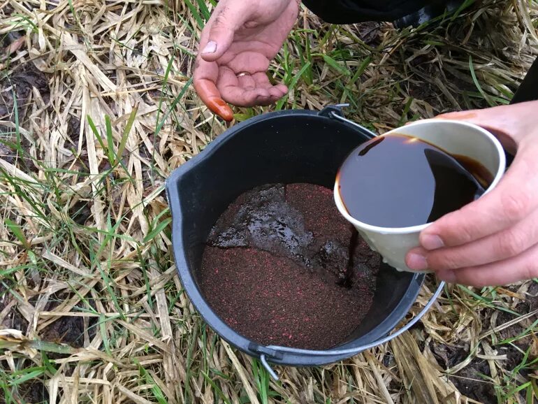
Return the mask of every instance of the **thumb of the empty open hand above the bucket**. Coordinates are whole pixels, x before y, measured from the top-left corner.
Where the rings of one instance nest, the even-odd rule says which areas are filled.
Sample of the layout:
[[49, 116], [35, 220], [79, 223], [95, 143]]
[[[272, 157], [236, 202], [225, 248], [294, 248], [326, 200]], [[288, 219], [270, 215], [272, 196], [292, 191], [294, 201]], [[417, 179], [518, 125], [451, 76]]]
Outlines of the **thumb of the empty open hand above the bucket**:
[[[226, 4], [225, 4], [226, 3]], [[233, 43], [233, 36], [252, 14], [249, 1], [222, 1], [211, 16], [204, 31], [208, 41], [201, 51], [201, 57], [207, 62], [219, 59]], [[205, 34], [205, 33], [204, 33]]]

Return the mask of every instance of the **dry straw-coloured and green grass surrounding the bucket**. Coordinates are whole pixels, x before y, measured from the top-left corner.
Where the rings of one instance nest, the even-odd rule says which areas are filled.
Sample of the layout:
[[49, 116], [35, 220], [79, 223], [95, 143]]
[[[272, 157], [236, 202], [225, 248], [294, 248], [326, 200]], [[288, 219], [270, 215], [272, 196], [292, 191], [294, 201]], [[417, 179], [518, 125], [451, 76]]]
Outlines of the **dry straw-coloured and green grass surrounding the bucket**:
[[[451, 285], [394, 342], [277, 367], [279, 382], [205, 326], [175, 275], [163, 181], [227, 128], [191, 86], [214, 6], [0, 8], [0, 403], [536, 402], [535, 281]], [[348, 117], [381, 133], [509, 103], [537, 25], [535, 0], [467, 2], [401, 31], [303, 10], [270, 66], [289, 94], [235, 117], [349, 103]]]

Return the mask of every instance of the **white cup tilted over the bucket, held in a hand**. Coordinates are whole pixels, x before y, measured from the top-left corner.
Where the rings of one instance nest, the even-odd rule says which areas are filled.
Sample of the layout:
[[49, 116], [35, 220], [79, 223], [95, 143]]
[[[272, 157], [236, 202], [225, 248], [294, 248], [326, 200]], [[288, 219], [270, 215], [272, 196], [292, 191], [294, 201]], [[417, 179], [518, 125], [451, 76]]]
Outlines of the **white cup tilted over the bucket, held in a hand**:
[[[484, 194], [495, 188], [506, 168], [506, 158], [499, 140], [486, 129], [474, 124], [441, 119], [420, 120], [405, 127], [388, 131], [381, 136], [389, 134], [414, 136], [421, 140], [426, 140], [428, 143], [436, 145], [450, 154], [459, 154], [479, 161], [494, 176], [493, 182], [491, 182]], [[368, 175], [368, 173], [361, 175]], [[358, 233], [370, 245], [372, 250], [381, 254], [384, 262], [398, 270], [417, 272], [407, 267], [405, 256], [409, 250], [420, 245], [419, 234], [430, 223], [410, 227], [372, 226], [368, 223], [359, 222], [349, 215], [344, 203], [342, 203], [342, 199], [340, 199], [337, 181], [334, 187], [334, 197], [336, 206], [342, 216], [355, 226]]]

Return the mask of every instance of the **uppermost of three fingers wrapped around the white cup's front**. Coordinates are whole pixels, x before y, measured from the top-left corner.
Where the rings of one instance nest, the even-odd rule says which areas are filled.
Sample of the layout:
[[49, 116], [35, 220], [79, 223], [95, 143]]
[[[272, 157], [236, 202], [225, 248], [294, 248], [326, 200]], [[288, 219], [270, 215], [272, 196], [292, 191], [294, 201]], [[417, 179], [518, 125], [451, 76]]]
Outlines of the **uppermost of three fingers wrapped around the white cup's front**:
[[[532, 139], [531, 139], [532, 140]], [[538, 142], [525, 143], [499, 185], [422, 231], [426, 250], [456, 247], [508, 229], [538, 208]]]

